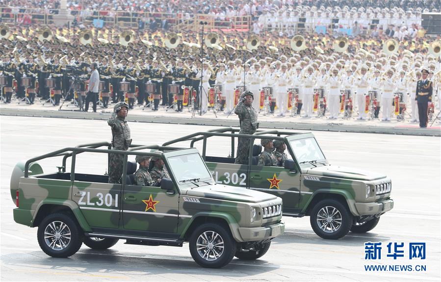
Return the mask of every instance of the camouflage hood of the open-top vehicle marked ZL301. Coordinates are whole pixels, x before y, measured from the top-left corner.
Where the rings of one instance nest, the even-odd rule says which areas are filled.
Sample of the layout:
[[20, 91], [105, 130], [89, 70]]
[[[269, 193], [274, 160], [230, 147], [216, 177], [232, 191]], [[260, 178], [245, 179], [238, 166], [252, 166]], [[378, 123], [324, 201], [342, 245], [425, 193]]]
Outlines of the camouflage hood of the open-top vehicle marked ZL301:
[[276, 196], [271, 194], [222, 184], [204, 185], [188, 189], [185, 195], [248, 203], [259, 203], [277, 199]]

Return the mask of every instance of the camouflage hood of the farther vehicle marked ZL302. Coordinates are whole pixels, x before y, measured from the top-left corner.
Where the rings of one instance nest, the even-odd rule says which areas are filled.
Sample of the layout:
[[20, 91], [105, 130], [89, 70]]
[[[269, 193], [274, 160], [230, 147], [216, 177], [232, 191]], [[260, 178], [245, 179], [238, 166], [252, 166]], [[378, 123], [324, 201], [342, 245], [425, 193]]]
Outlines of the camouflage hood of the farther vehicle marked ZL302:
[[342, 179], [357, 179], [357, 180], [376, 180], [386, 178], [384, 174], [370, 172], [352, 167], [343, 167], [338, 165], [318, 166], [307, 169], [307, 174], [315, 176], [336, 177]]

